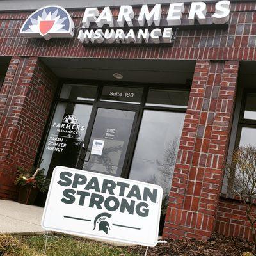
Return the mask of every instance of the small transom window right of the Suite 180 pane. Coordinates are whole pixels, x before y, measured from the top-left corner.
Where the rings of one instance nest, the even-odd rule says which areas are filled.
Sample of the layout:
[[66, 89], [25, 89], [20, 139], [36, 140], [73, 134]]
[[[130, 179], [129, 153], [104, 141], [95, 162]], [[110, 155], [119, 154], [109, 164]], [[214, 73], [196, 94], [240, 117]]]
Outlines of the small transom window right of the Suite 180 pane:
[[187, 108], [189, 92], [177, 90], [150, 89], [147, 106]]

